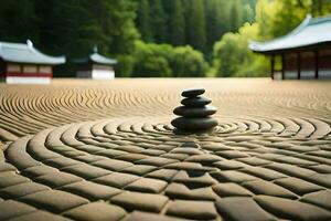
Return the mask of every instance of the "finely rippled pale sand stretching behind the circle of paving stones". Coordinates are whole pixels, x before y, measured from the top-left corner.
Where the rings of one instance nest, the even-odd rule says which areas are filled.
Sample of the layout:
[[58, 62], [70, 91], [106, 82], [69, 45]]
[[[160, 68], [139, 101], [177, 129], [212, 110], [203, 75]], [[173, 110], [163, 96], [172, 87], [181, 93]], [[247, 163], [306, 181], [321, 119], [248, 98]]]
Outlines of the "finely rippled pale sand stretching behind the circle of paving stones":
[[15, 140], [26, 134], [78, 122], [110, 117], [167, 117], [179, 105], [181, 91], [194, 86], [206, 88], [206, 96], [218, 108], [218, 117], [314, 117], [331, 124], [330, 82], [273, 82], [269, 78], [54, 80], [51, 85], [0, 83], [0, 140]]

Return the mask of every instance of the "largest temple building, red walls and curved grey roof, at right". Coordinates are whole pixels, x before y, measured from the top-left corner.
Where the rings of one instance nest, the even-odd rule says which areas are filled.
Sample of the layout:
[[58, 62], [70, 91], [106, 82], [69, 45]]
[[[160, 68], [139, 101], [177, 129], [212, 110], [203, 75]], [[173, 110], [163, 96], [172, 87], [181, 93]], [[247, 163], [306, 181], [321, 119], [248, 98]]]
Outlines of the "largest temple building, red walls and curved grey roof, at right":
[[249, 49], [270, 56], [273, 78], [331, 78], [331, 17], [308, 15], [285, 36], [252, 42]]

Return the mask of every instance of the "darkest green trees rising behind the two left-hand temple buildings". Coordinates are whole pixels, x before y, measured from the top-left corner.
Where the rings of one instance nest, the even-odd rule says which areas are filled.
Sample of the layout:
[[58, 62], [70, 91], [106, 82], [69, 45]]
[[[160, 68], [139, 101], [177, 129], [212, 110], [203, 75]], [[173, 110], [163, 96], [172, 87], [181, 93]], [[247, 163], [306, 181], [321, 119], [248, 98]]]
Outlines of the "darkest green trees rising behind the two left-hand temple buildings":
[[[45, 53], [68, 56], [86, 56], [97, 44], [100, 53], [129, 61], [139, 39], [135, 19], [132, 0], [1, 0], [0, 40], [31, 39]], [[122, 71], [130, 64], [119, 74], [129, 75]], [[60, 71], [74, 75], [71, 64]]]

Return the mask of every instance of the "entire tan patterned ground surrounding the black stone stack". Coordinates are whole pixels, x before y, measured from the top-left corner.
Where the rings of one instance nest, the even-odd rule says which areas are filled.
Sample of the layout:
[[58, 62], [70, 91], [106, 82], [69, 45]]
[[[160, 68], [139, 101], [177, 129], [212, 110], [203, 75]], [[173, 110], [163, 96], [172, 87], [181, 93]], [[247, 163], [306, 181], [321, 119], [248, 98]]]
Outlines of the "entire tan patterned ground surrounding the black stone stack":
[[[218, 126], [175, 135], [182, 90]], [[331, 220], [331, 82], [0, 84], [0, 220]]]

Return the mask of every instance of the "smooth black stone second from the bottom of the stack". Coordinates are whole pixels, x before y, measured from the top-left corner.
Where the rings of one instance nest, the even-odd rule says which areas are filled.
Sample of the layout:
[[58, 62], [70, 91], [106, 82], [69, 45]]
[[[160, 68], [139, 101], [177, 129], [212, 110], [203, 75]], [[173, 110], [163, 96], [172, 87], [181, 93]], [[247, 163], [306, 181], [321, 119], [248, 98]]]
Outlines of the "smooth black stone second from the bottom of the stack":
[[211, 105], [204, 107], [179, 106], [173, 109], [173, 114], [183, 117], [206, 117], [215, 114], [216, 112], [217, 108]]

